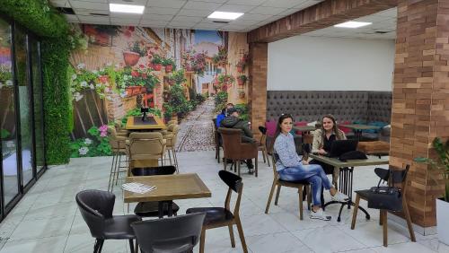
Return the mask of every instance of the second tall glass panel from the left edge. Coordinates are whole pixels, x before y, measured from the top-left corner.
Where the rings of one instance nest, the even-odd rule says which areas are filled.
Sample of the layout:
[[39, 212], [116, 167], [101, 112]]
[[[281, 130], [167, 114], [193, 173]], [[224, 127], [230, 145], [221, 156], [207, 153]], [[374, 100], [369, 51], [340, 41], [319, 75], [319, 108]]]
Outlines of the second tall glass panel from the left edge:
[[22, 182], [25, 186], [32, 179], [32, 135], [30, 82], [28, 76], [28, 38], [19, 28], [14, 30], [15, 69], [19, 87], [19, 114], [21, 121]]

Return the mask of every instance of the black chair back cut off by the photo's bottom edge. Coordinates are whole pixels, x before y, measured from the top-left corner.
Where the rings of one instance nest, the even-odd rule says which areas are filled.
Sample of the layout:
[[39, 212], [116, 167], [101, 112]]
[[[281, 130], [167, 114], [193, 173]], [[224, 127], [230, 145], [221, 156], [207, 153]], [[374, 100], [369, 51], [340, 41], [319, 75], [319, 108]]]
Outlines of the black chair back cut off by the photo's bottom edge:
[[144, 253], [192, 252], [201, 234], [206, 214], [187, 214], [165, 219], [134, 222], [140, 249]]

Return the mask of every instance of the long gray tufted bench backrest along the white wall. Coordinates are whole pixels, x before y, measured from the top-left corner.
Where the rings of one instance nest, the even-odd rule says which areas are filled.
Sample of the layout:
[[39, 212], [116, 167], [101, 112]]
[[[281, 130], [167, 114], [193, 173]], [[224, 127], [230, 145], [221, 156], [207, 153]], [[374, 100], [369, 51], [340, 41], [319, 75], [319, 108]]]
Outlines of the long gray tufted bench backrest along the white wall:
[[321, 120], [333, 114], [339, 121], [373, 121], [390, 123], [392, 92], [302, 92], [269, 91], [267, 120], [277, 120], [289, 113], [295, 121]]

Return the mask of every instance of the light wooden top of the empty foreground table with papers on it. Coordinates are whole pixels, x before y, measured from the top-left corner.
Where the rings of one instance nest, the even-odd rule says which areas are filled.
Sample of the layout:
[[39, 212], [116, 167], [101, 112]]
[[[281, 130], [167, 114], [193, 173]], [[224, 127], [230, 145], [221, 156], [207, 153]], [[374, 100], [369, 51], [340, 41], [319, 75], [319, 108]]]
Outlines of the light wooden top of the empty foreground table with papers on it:
[[156, 189], [145, 194], [124, 191], [124, 202], [164, 201], [186, 198], [210, 197], [212, 194], [198, 174], [128, 177], [127, 183], [138, 182]]

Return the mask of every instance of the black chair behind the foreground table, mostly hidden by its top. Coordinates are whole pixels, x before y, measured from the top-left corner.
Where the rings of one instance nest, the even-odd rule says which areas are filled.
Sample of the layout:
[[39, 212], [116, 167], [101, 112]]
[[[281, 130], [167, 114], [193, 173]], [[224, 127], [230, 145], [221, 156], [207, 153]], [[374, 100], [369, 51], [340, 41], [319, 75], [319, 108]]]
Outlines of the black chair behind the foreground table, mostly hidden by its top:
[[[172, 175], [174, 172], [176, 172], [175, 166], [133, 168], [131, 170], [133, 176]], [[159, 201], [139, 202], [134, 208], [134, 214], [140, 217], [160, 217], [159, 204]], [[180, 211], [180, 206], [172, 203], [172, 213], [176, 216], [178, 211]], [[168, 205], [163, 205], [163, 216], [165, 215], [170, 216]]]

